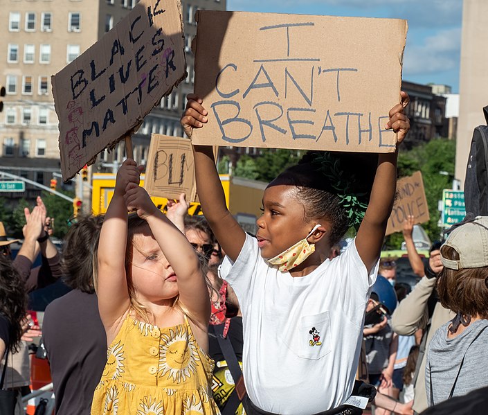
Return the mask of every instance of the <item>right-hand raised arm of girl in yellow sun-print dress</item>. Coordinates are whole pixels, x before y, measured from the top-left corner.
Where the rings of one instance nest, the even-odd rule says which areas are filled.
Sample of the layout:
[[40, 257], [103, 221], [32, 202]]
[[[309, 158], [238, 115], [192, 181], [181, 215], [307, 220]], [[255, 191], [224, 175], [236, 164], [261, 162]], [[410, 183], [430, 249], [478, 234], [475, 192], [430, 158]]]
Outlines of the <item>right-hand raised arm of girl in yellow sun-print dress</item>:
[[210, 319], [210, 297], [199, 258], [186, 236], [154, 205], [144, 188], [130, 183], [125, 193], [127, 210], [137, 211], [149, 225], [156, 242], [177, 274], [179, 299], [202, 328]]

